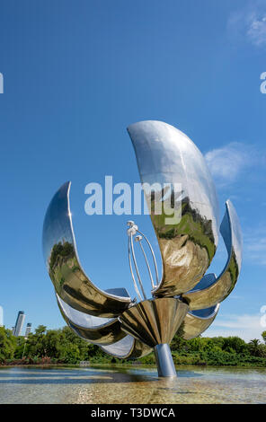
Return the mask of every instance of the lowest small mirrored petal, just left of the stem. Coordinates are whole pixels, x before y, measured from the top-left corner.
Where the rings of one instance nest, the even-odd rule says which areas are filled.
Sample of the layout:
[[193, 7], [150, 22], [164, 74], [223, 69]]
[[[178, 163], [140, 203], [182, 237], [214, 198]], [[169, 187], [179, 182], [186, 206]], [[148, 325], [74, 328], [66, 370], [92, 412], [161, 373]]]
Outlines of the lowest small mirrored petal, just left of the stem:
[[103, 352], [114, 357], [119, 357], [120, 359], [137, 359], [149, 355], [153, 351], [151, 347], [146, 346], [141, 341], [129, 335], [113, 343], [111, 346], [100, 347]]

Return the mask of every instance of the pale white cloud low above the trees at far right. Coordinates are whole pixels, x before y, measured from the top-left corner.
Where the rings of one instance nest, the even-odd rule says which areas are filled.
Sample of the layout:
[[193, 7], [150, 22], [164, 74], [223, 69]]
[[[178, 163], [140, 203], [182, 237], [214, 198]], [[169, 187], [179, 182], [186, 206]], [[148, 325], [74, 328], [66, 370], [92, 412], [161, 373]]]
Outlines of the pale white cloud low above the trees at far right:
[[227, 315], [226, 317], [218, 317], [212, 323], [210, 328], [204, 332], [204, 337], [229, 337], [237, 336], [245, 341], [253, 338], [262, 340], [262, 331], [266, 327], [262, 325], [262, 313], [249, 315]]

